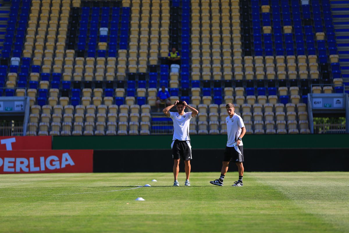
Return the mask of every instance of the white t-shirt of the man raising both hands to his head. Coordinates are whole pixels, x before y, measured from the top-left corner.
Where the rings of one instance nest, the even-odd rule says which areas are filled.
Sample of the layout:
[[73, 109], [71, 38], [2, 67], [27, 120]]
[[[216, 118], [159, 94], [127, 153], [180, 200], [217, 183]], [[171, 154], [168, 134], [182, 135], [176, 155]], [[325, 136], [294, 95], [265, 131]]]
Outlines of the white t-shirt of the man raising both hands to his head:
[[189, 137], [189, 124], [192, 118], [192, 112], [184, 112], [181, 116], [178, 112], [170, 112], [170, 117], [173, 120], [173, 139], [187, 141]]

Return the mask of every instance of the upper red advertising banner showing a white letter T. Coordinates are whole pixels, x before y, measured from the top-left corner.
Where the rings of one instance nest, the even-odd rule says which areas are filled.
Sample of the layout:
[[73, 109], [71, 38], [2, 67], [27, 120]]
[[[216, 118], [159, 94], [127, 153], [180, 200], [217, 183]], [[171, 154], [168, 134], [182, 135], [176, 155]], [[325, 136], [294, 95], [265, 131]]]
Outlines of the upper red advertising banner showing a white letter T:
[[51, 136], [0, 137], [0, 150], [51, 150]]

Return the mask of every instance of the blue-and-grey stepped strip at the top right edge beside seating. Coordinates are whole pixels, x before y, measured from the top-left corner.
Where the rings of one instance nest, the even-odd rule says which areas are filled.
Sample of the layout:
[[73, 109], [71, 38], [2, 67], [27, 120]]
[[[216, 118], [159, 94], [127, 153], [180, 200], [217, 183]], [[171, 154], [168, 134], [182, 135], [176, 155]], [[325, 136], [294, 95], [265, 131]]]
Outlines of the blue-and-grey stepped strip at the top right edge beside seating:
[[330, 1], [343, 83], [349, 93], [349, 1]]

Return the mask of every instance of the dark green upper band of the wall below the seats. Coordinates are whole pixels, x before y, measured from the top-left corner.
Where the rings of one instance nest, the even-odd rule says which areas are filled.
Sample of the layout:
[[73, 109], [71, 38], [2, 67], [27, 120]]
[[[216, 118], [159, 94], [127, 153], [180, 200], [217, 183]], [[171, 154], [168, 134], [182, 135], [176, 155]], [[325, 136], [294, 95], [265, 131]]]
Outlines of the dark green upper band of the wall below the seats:
[[[192, 135], [193, 149], [224, 148], [227, 135]], [[127, 150], [169, 149], [172, 135], [154, 136], [54, 136], [59, 149]], [[244, 148], [349, 148], [349, 134], [245, 135]]]

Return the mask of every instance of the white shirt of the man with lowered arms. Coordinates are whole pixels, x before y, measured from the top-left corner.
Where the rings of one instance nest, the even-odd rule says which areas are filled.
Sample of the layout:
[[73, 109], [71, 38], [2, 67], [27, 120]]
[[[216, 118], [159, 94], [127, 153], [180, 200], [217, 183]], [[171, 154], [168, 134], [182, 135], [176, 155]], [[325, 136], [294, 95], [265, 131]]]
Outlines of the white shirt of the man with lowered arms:
[[[227, 122], [227, 131], [228, 131], [228, 141], [227, 146], [233, 147], [233, 144], [235, 143], [236, 139], [240, 136], [242, 129], [244, 128], [244, 122], [242, 121], [242, 118], [234, 113], [234, 115], [230, 118], [227, 116], [225, 118], [225, 121]], [[240, 146], [242, 146], [243, 143], [241, 141]]]

